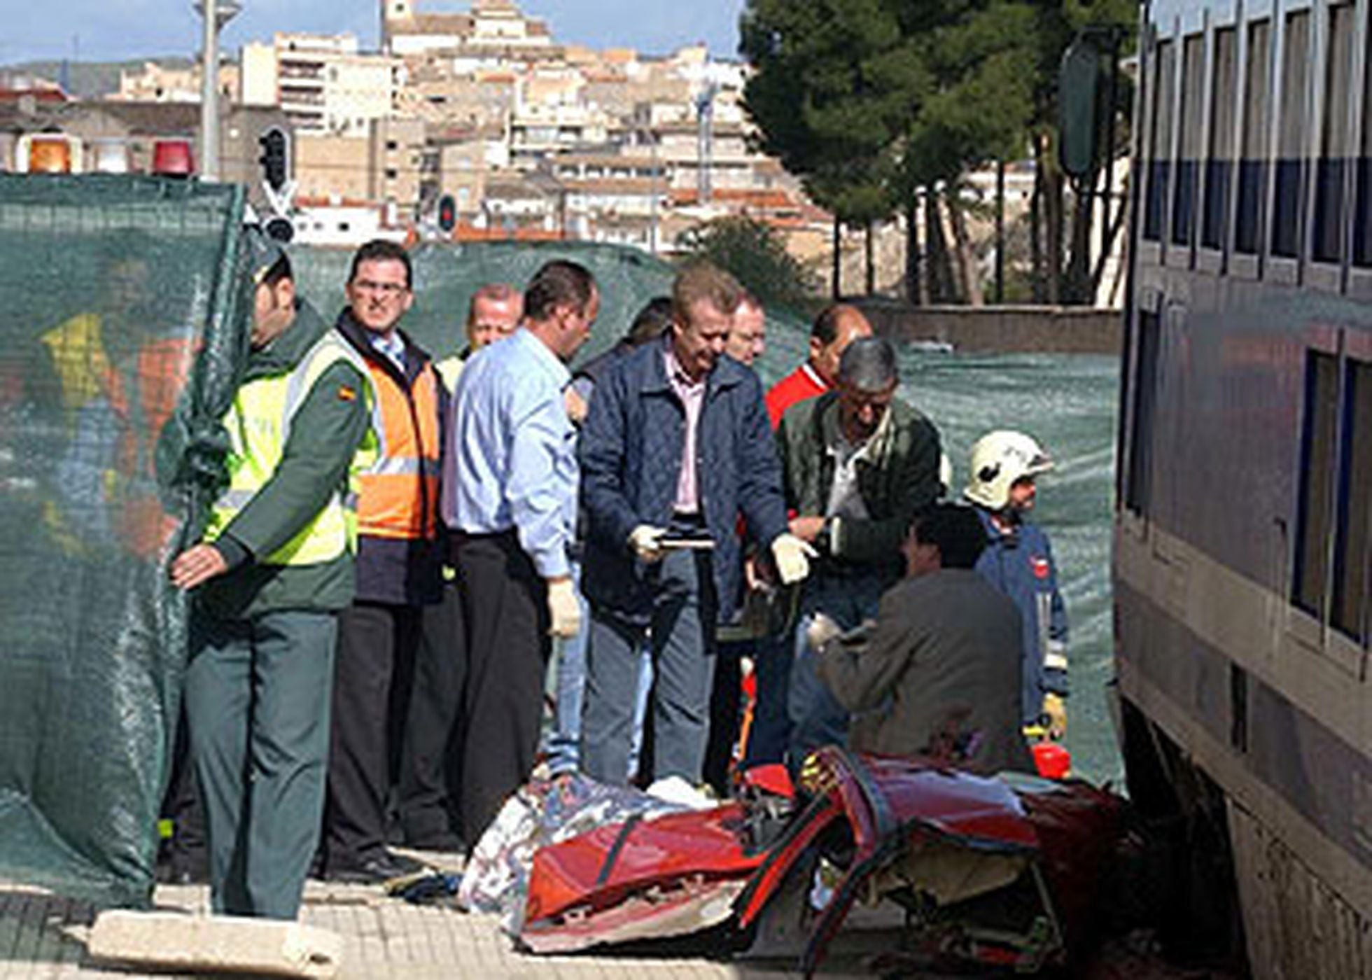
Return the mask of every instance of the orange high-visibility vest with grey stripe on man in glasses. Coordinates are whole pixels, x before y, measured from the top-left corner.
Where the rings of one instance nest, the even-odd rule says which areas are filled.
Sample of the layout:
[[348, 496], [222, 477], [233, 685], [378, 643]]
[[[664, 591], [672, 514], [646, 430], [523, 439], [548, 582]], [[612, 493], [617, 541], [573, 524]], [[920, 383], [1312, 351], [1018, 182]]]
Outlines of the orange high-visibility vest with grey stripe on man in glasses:
[[438, 375], [425, 364], [409, 390], [368, 364], [383, 432], [376, 465], [362, 474], [358, 531], [376, 538], [432, 538], [438, 533]]

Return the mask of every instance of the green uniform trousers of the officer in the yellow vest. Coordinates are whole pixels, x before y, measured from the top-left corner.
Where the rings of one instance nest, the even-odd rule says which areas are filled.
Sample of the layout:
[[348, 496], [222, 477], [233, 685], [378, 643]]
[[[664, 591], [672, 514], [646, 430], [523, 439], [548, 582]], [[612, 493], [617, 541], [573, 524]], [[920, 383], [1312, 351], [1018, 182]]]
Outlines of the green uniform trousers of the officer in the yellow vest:
[[295, 918], [329, 747], [333, 614], [196, 616], [185, 673], [215, 913]]

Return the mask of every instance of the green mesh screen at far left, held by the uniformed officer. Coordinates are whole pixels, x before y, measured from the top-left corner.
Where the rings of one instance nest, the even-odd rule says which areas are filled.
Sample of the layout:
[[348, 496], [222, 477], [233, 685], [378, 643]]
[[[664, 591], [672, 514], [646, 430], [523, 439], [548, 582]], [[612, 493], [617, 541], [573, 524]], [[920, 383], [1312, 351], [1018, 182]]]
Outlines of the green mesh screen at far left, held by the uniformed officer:
[[214, 491], [241, 192], [0, 176], [0, 878], [147, 902]]

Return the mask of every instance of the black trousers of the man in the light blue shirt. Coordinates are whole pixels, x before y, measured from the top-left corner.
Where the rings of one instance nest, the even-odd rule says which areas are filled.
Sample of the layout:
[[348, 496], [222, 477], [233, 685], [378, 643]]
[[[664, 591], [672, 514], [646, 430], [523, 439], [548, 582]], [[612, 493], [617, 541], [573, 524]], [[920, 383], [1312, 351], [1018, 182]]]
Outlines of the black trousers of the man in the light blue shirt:
[[547, 586], [513, 531], [457, 535], [466, 618], [462, 832], [476, 845], [534, 770], [552, 655]]

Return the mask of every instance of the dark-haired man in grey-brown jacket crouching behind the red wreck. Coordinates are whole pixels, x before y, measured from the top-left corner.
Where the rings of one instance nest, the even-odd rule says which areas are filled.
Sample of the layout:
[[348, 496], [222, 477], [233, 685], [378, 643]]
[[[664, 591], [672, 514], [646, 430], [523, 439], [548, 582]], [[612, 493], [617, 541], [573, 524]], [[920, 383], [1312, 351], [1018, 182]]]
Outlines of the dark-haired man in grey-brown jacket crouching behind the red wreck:
[[1019, 725], [1019, 614], [974, 571], [986, 546], [967, 506], [940, 504], [903, 545], [906, 578], [870, 629], [819, 618], [819, 678], [855, 712], [849, 747], [925, 755], [975, 773], [1033, 771]]

